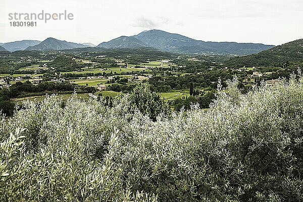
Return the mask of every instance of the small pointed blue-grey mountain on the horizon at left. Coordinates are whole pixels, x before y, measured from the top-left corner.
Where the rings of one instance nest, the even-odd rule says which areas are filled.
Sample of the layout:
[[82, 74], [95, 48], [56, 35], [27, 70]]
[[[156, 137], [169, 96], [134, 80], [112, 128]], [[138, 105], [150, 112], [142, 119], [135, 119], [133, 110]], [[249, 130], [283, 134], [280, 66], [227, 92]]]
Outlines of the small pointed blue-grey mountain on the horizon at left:
[[26, 51], [60, 51], [64, 49], [72, 49], [77, 47], [86, 47], [86, 46], [80, 43], [67, 42], [50, 37], [37, 45], [29, 46], [25, 50]]

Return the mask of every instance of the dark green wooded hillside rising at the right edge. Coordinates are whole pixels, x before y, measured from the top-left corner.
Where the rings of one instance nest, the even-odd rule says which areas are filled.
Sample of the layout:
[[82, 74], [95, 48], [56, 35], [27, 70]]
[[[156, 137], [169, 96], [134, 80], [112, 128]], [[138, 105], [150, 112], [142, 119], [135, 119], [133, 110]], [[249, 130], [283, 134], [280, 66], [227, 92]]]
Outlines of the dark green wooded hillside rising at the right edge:
[[303, 61], [303, 39], [275, 46], [249, 56], [235, 57], [225, 62], [230, 67], [283, 66], [290, 62]]

